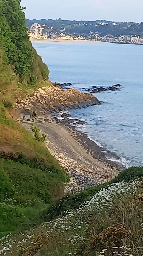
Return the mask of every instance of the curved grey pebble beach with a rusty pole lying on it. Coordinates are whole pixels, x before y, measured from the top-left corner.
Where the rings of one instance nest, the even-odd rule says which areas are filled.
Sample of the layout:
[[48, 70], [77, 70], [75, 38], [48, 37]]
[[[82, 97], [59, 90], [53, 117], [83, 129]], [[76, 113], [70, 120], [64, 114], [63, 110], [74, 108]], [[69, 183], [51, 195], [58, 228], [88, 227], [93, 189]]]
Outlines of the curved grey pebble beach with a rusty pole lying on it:
[[[31, 132], [33, 122], [22, 122]], [[64, 193], [76, 193], [87, 187], [99, 185], [118, 175], [121, 165], [107, 159], [103, 148], [74, 127], [59, 123], [39, 123], [41, 133], [46, 134], [45, 145], [60, 165], [71, 176]]]

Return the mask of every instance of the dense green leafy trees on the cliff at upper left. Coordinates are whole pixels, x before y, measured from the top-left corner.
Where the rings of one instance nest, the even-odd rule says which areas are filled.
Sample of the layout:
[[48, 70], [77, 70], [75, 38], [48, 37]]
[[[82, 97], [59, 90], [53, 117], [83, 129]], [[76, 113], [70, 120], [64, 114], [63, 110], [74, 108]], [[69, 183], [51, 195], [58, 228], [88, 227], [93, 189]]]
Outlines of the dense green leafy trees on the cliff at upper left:
[[20, 80], [35, 84], [48, 79], [49, 70], [29, 41], [19, 0], [0, 0], [0, 47], [4, 63], [14, 67]]

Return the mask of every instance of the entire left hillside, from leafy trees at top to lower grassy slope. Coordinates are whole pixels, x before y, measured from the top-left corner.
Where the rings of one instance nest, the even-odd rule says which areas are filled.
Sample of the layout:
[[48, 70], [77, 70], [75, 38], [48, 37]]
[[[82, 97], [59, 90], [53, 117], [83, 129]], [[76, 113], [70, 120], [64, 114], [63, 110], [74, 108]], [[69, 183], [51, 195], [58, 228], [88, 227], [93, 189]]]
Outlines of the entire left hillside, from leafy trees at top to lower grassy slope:
[[17, 122], [13, 105], [49, 70], [33, 49], [18, 0], [0, 0], [0, 236], [29, 228], [64, 191], [67, 178], [44, 143]]

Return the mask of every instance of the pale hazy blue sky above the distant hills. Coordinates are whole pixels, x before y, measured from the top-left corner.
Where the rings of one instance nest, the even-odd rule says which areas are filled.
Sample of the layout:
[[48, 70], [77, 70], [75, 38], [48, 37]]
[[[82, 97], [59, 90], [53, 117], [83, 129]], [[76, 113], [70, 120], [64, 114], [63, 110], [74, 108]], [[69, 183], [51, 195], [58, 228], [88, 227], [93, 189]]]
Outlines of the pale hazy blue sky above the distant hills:
[[22, 0], [26, 19], [143, 21], [143, 0]]

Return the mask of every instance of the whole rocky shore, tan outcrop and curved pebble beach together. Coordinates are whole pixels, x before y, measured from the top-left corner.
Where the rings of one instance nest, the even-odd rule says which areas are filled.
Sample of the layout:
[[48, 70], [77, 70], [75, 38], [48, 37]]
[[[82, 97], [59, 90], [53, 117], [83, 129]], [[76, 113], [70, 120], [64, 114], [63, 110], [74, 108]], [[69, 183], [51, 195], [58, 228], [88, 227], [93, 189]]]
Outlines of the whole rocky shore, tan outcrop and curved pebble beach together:
[[[110, 180], [123, 169], [121, 164], [108, 159], [108, 156], [116, 159], [118, 156], [97, 145], [88, 138], [88, 134], [69, 125], [75, 122], [74, 119], [72, 122], [67, 122], [70, 118], [63, 123], [59, 121], [63, 112], [92, 104], [100, 104], [92, 94], [75, 89], [63, 90], [52, 85], [37, 89], [26, 101], [15, 105], [15, 110], [20, 111], [20, 123], [31, 133], [31, 125], [35, 123], [41, 133], [47, 135], [45, 145], [51, 154], [62, 167], [68, 169], [72, 185], [67, 186], [66, 192], [75, 193], [86, 187], [105, 183], [107, 176]], [[30, 113], [35, 110], [37, 118], [32, 120]], [[82, 122], [78, 119], [76, 121]]]

